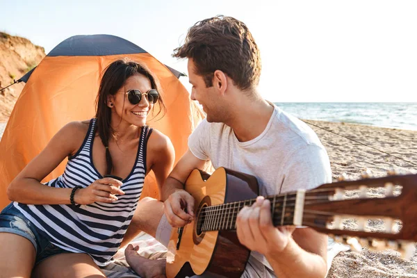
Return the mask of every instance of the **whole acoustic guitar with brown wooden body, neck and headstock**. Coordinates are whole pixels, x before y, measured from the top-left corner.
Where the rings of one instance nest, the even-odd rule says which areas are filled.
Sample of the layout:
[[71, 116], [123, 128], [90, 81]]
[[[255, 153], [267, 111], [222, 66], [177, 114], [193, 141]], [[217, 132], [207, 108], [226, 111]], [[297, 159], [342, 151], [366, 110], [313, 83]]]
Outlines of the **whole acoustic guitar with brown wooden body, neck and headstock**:
[[[375, 189], [384, 190], [383, 197]], [[166, 275], [191, 277], [210, 273], [240, 277], [250, 250], [236, 236], [236, 218], [259, 195], [256, 178], [220, 167], [211, 176], [194, 170], [185, 189], [195, 198], [195, 219], [172, 229], [167, 247]], [[345, 198], [345, 190], [357, 190]], [[341, 179], [313, 190], [268, 196], [275, 226], [308, 226], [359, 249], [391, 248], [408, 256], [417, 241], [417, 174]], [[358, 229], [343, 227], [343, 220], [357, 221]], [[371, 231], [368, 221], [385, 224], [385, 231]], [[375, 239], [383, 239], [379, 242]]]

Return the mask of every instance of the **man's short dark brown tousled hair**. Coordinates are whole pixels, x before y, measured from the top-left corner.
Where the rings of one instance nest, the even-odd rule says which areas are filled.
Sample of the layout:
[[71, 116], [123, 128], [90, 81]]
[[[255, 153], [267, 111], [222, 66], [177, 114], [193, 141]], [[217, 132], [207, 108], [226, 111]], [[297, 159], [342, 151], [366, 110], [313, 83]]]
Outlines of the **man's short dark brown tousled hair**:
[[193, 58], [195, 74], [203, 76], [206, 87], [213, 86], [215, 70], [227, 74], [240, 90], [259, 83], [258, 46], [247, 26], [234, 17], [218, 15], [197, 22], [172, 56]]

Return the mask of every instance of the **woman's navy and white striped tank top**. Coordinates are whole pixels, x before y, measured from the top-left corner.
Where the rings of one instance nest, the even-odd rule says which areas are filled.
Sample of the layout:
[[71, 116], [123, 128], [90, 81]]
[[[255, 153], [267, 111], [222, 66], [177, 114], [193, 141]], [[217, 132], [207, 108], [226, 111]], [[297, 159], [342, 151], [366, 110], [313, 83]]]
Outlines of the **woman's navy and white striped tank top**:
[[[55, 188], [90, 186], [103, 177], [92, 163], [92, 143], [95, 137], [95, 119], [88, 127], [83, 145], [74, 156], [68, 158], [64, 173], [48, 183]], [[120, 189], [117, 201], [109, 204], [95, 202], [79, 207], [71, 204], [27, 205], [14, 202], [28, 220], [44, 231], [49, 240], [58, 247], [74, 252], [87, 253], [97, 263], [105, 266], [113, 261], [129, 226], [146, 174], [146, 146], [152, 129], [142, 128], [136, 154], [136, 163]]]

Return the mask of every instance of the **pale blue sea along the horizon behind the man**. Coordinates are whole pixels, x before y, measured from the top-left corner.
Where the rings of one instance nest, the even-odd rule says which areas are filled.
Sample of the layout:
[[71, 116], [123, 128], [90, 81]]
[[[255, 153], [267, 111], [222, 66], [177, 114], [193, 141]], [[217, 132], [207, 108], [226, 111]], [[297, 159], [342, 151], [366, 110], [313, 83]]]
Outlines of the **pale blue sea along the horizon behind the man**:
[[303, 120], [346, 122], [417, 131], [417, 102], [276, 102]]

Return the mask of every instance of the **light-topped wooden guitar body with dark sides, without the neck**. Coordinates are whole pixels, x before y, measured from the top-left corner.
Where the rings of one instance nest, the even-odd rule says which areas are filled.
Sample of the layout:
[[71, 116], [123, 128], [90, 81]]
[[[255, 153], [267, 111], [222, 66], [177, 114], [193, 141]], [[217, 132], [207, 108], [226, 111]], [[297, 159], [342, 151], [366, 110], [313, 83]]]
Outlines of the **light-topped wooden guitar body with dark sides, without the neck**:
[[[211, 176], [194, 170], [185, 189], [195, 198], [195, 220], [204, 206], [253, 199], [259, 195], [255, 177], [222, 167]], [[250, 250], [238, 242], [236, 231], [200, 231], [197, 222], [193, 221], [183, 227], [181, 234], [179, 229], [172, 229], [166, 275], [169, 278], [191, 277], [204, 273], [240, 277], [249, 255]]]

